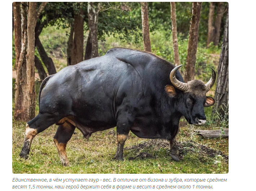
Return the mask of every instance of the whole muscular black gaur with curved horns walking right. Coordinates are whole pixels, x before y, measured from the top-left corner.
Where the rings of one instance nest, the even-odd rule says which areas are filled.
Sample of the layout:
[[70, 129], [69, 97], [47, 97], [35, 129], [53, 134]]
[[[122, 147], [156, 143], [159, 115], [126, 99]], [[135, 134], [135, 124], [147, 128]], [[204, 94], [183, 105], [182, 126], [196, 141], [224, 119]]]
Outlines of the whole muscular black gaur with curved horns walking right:
[[89, 138], [115, 126], [116, 159], [123, 160], [124, 142], [131, 130], [141, 138], [169, 140], [171, 156], [178, 161], [175, 136], [180, 117], [185, 116], [190, 124], [204, 124], [203, 107], [214, 103], [206, 93], [216, 74], [213, 71], [206, 85], [200, 80], [183, 83], [177, 69], [151, 53], [113, 48], [102, 57], [48, 76], [40, 86], [39, 114], [27, 122], [20, 156], [28, 157], [36, 134], [57, 124], [54, 143], [63, 165], [69, 165], [66, 144], [75, 128]]

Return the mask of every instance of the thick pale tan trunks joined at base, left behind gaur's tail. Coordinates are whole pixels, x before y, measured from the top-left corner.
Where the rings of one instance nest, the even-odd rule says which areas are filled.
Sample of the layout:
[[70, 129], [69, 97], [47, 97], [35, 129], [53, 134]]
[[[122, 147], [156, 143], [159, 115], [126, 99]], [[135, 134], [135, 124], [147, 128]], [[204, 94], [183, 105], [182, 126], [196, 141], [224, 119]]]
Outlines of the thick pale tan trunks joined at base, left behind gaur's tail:
[[37, 10], [36, 2], [30, 2], [29, 5], [21, 3], [22, 45], [20, 53], [16, 53], [19, 54], [15, 88], [16, 120], [28, 121], [35, 117], [35, 26], [37, 16], [46, 3], [42, 3]]

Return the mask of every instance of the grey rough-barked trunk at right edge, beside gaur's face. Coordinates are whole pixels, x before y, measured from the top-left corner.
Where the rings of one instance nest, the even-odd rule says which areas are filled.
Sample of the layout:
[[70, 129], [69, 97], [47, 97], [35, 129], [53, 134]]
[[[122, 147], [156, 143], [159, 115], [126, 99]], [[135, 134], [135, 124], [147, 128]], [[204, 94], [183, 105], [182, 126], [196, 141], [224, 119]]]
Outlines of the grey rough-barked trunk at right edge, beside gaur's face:
[[[218, 66], [217, 86], [215, 91], [215, 108], [224, 116], [221, 106], [228, 107], [229, 101], [229, 12], [226, 15], [220, 61]], [[225, 108], [225, 107], [224, 107]]]

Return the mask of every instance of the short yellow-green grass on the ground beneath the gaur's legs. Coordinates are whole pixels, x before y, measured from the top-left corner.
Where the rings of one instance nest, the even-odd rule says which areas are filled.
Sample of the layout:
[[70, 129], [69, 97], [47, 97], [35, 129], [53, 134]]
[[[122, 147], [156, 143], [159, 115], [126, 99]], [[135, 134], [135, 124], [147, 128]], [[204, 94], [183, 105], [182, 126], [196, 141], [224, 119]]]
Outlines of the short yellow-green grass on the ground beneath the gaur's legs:
[[[133, 134], [125, 142], [124, 161], [116, 161], [113, 159], [116, 136], [108, 133], [110, 130], [94, 133], [89, 140], [76, 130], [67, 145], [71, 166], [64, 167], [53, 143], [56, 130], [57, 126], [52, 125], [38, 134], [33, 139], [28, 159], [24, 160], [19, 152], [23, 146], [25, 123], [13, 121], [13, 173], [213, 173], [218, 168], [214, 163], [219, 152], [207, 148], [206, 151], [214, 155], [209, 156], [198, 143], [185, 141], [184, 136], [179, 142], [182, 154], [179, 162], [169, 156], [168, 141], [141, 139]], [[128, 160], [141, 152], [152, 154], [153, 159]], [[228, 161], [221, 162], [222, 169], [217, 173], [228, 172]]]

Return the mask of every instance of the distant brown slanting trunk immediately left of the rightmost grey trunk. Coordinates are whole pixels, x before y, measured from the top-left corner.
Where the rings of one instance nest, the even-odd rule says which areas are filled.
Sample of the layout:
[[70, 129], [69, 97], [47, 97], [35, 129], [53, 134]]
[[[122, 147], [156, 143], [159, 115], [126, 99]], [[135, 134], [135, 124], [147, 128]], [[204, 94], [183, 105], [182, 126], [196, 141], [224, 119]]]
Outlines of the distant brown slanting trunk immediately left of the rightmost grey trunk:
[[214, 45], [217, 46], [220, 42], [220, 26], [221, 26], [221, 20], [222, 16], [225, 12], [224, 2], [219, 2], [217, 7], [217, 15], [215, 19], [215, 27], [214, 27]]

